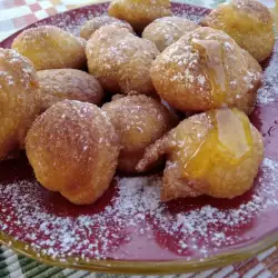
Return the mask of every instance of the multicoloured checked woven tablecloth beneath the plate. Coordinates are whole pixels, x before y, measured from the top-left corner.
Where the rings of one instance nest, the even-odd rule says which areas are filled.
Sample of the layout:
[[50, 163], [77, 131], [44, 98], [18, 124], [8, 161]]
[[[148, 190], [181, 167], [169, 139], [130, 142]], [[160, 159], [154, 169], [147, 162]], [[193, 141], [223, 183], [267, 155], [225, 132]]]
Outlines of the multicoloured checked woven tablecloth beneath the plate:
[[[215, 8], [225, 0], [180, 0], [179, 2], [193, 3]], [[9, 37], [19, 29], [47, 18], [58, 12], [78, 8], [100, 0], [0, 0], [0, 41]], [[271, 8], [272, 0], [262, 0], [266, 6]], [[24, 256], [14, 254], [11, 249], [0, 246], [0, 278], [129, 278], [129, 276], [91, 274], [58, 267], [49, 267]], [[138, 276], [131, 276], [138, 278]], [[157, 276], [156, 276], [157, 277]], [[278, 277], [278, 249], [272, 247], [267, 251], [247, 261], [236, 264], [219, 269], [210, 269], [203, 272], [187, 274], [179, 276], [165, 276], [172, 278], [270, 278]], [[153, 277], [155, 278], [155, 277]]]

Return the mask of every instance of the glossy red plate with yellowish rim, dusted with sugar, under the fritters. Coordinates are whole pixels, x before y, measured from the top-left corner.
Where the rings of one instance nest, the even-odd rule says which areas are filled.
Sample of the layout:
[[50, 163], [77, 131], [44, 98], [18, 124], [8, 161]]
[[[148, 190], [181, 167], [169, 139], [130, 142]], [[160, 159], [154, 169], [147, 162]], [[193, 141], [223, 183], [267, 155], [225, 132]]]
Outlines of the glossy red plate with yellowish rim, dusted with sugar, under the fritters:
[[[40, 24], [78, 32], [107, 3], [80, 8]], [[198, 20], [209, 10], [173, 3]], [[30, 28], [30, 27], [28, 27]], [[9, 48], [12, 36], [0, 43]], [[277, 46], [276, 46], [277, 48]], [[186, 272], [249, 257], [278, 240], [278, 53], [265, 63], [265, 83], [251, 116], [266, 158], [254, 189], [234, 200], [159, 201], [160, 175], [116, 178], [92, 206], [77, 207], [44, 190], [26, 158], [0, 163], [0, 239], [16, 250], [63, 267], [113, 272]]]

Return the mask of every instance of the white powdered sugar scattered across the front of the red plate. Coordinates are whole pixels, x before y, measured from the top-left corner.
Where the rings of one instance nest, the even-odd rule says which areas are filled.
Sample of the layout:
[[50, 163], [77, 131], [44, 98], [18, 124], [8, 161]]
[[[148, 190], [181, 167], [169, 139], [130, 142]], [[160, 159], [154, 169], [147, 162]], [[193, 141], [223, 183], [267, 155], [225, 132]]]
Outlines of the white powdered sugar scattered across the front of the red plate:
[[[37, 182], [2, 183], [0, 230], [31, 244], [42, 255], [63, 261], [69, 256], [83, 260], [110, 257], [119, 246], [132, 242], [135, 235], [129, 234], [128, 227], [135, 227], [133, 232], [146, 237], [152, 230], [156, 240], [163, 235], [162, 245], [175, 247], [172, 251], [178, 256], [203, 259], [219, 247], [248, 240], [248, 236], [232, 231], [240, 231], [240, 227], [248, 226], [264, 211], [278, 208], [278, 162], [268, 158], [262, 163], [259, 186], [246, 202], [235, 208], [188, 205], [173, 212], [159, 200], [160, 176], [116, 180], [117, 193], [110, 203], [100, 212], [77, 216], [51, 212]], [[187, 200], [182, 202], [185, 206]]]

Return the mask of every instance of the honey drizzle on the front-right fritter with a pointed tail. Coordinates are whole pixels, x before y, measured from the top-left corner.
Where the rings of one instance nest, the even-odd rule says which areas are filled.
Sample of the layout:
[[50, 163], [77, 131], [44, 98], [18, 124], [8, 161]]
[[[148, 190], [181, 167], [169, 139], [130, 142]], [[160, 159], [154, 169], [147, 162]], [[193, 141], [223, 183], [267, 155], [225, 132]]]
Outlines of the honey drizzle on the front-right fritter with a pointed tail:
[[208, 112], [211, 129], [185, 165], [185, 177], [202, 178], [216, 163], [239, 165], [252, 147], [252, 133], [247, 116], [237, 109]]

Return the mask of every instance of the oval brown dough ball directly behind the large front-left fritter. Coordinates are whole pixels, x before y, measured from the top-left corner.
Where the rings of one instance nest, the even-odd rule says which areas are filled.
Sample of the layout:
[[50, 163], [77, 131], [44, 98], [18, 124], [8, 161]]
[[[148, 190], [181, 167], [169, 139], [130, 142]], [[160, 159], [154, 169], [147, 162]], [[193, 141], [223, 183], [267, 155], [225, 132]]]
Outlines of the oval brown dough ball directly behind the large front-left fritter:
[[41, 110], [64, 99], [79, 100], [100, 105], [103, 90], [91, 75], [76, 69], [40, 70]]

